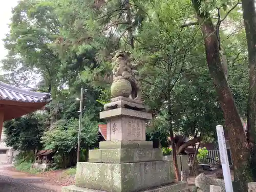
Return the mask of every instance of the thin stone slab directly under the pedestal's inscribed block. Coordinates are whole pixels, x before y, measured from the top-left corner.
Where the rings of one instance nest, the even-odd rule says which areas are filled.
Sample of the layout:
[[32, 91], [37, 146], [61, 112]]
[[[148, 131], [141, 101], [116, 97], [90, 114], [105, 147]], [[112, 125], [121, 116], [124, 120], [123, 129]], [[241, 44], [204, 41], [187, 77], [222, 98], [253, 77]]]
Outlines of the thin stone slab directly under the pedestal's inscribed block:
[[99, 142], [100, 150], [111, 148], [153, 148], [152, 141], [101, 141]]

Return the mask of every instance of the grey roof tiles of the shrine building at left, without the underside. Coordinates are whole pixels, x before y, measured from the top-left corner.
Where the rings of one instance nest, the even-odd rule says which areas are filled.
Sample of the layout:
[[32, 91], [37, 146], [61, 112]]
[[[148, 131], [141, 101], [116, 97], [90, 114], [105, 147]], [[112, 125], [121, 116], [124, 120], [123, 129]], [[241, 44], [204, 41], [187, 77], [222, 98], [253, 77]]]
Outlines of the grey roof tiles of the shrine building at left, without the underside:
[[0, 81], [0, 100], [10, 100], [17, 102], [49, 102], [50, 93], [38, 93], [22, 90]]

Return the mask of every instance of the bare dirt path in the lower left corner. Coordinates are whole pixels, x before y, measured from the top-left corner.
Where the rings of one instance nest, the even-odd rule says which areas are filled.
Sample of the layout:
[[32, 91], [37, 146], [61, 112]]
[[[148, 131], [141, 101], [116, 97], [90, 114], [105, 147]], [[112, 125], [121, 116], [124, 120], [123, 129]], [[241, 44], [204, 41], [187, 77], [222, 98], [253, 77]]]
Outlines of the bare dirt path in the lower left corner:
[[15, 172], [11, 167], [0, 165], [0, 192], [61, 192], [61, 186], [53, 185], [49, 179]]

